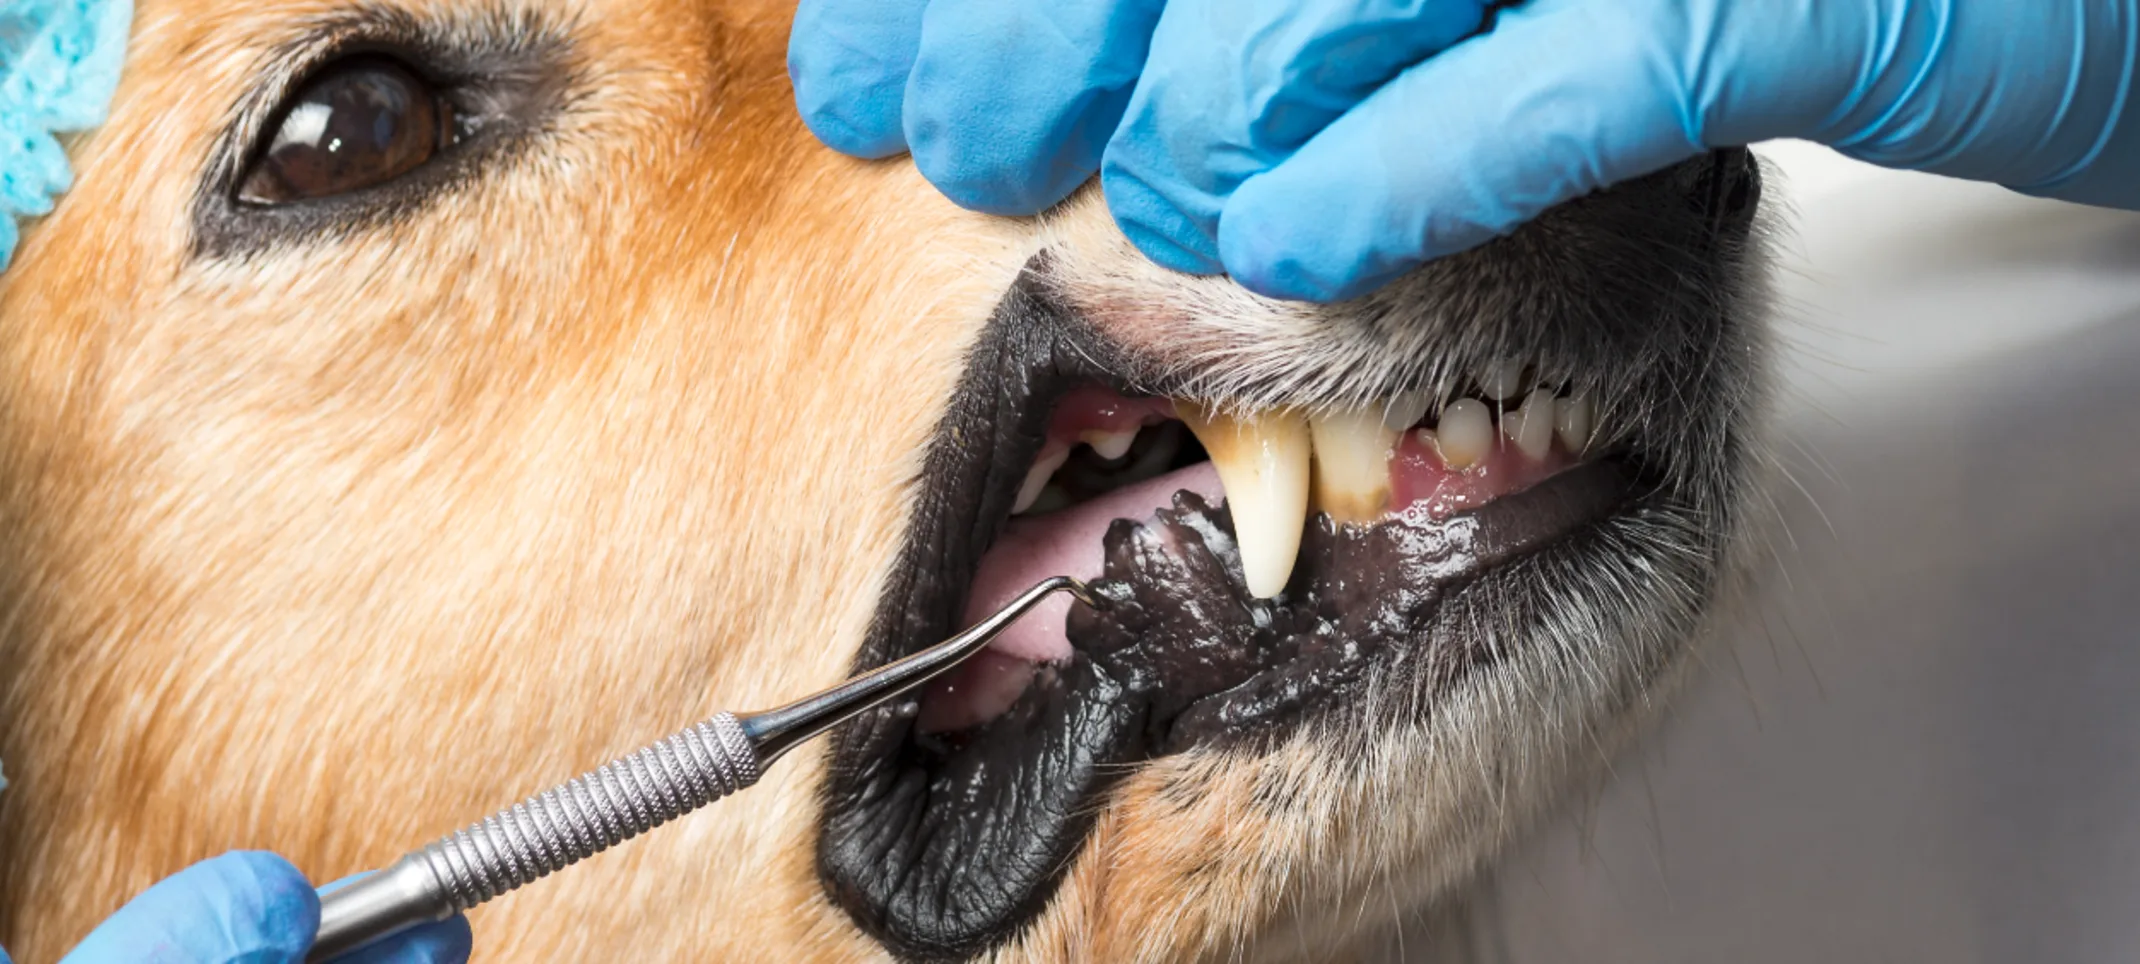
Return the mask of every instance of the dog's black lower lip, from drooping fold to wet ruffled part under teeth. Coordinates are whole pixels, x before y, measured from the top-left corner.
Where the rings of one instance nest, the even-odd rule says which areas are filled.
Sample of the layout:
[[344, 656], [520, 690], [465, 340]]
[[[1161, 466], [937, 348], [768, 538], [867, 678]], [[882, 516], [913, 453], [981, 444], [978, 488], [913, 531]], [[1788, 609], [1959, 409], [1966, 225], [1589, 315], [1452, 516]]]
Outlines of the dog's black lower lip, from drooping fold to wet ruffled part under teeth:
[[[1106, 533], [1102, 611], [1074, 606], [1076, 656], [1044, 668], [1002, 718], [950, 739], [901, 741], [865, 799], [830, 810], [826, 880], [910, 958], [959, 958], [1038, 910], [1130, 765], [1282, 733], [1348, 698], [1370, 673], [1440, 688], [1485, 660], [1421, 651], [1440, 600], [1483, 570], [1603, 516], [1626, 495], [1614, 465], [1562, 473], [1432, 525], [1310, 523], [1280, 600], [1241, 587], [1233, 521], [1177, 493]], [[912, 713], [912, 703], [903, 709]]]

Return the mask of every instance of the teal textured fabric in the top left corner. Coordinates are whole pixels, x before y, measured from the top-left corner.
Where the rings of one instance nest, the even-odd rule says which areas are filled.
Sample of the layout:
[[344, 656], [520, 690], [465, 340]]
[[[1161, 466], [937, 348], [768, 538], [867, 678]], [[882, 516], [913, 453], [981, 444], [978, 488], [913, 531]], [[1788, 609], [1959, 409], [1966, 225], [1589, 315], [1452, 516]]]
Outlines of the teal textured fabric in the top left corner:
[[0, 0], [0, 270], [73, 182], [51, 135], [103, 124], [131, 24], [133, 0]]

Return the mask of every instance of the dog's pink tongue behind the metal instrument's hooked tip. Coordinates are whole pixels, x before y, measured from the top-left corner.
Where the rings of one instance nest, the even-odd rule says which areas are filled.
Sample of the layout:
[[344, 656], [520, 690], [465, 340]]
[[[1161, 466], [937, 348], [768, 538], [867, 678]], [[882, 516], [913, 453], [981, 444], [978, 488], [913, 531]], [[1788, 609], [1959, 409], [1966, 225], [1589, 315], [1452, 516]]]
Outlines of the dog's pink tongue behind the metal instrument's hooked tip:
[[[1224, 499], [1218, 469], [1211, 463], [1196, 463], [1059, 512], [1012, 518], [995, 546], [980, 557], [959, 626], [978, 623], [1042, 578], [1072, 576], [1087, 583], [1100, 578], [1106, 527], [1117, 518], [1143, 523], [1171, 506], [1175, 493], [1183, 488], [1213, 506]], [[1064, 634], [1068, 613], [1070, 596], [1055, 593], [1004, 630], [989, 649], [1025, 662], [1064, 662], [1070, 658], [1070, 636]]]

